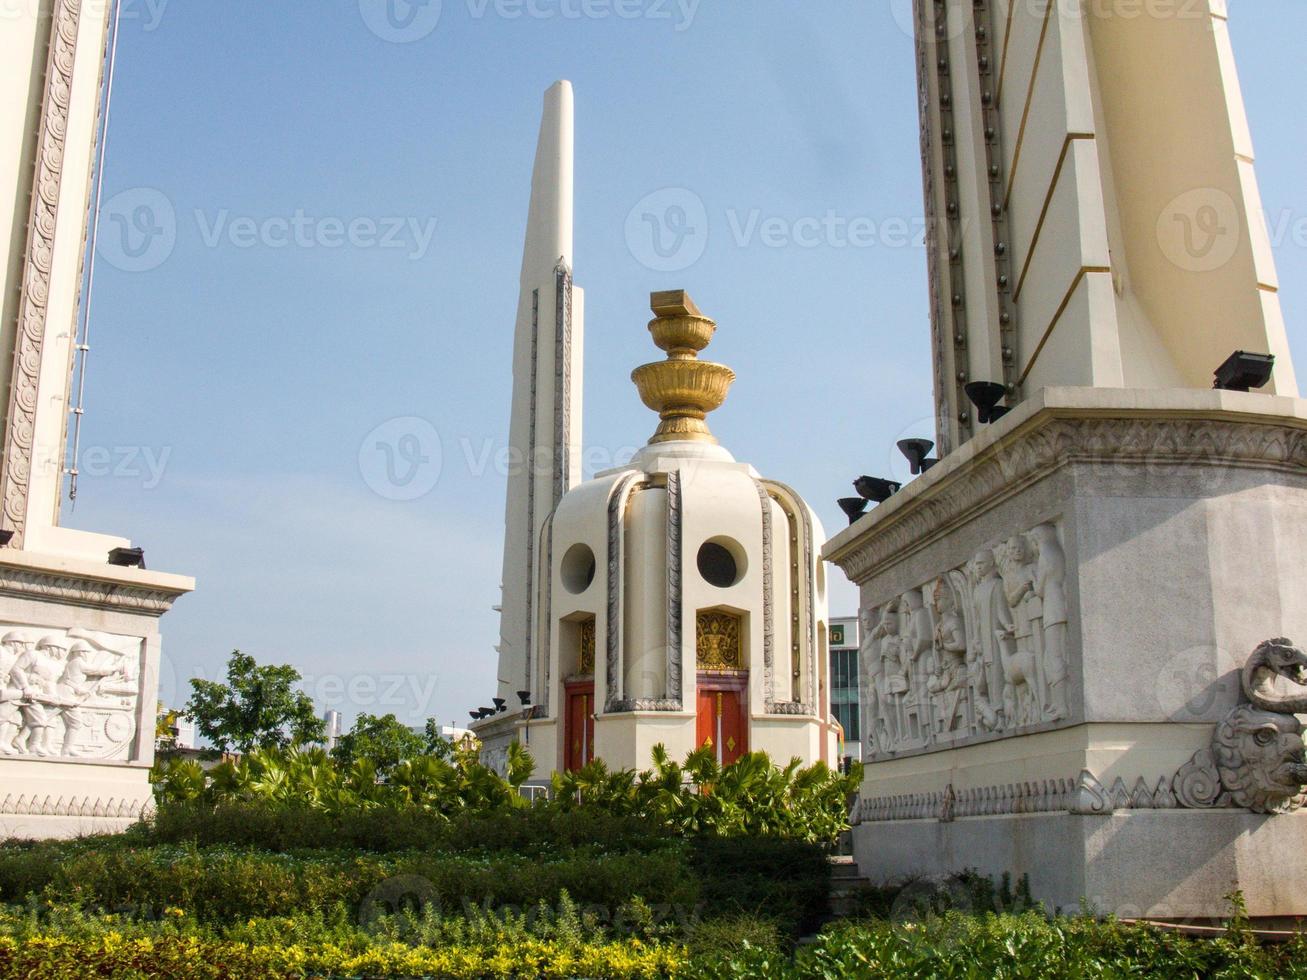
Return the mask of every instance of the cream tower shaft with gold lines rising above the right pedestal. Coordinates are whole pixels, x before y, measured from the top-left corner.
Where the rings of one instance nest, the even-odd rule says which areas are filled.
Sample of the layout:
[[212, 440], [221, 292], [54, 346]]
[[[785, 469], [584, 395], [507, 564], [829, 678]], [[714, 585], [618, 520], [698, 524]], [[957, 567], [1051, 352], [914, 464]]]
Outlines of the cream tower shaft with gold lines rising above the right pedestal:
[[915, 12], [941, 451], [970, 382], [1210, 388], [1248, 350], [1297, 397], [1225, 0]]

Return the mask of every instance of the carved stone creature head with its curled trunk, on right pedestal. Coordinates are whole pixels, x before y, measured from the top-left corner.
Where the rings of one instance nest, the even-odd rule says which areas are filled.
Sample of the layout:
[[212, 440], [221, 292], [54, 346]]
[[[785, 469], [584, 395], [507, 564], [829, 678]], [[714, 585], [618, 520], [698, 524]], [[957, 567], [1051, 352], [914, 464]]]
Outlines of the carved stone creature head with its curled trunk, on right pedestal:
[[[1281, 694], [1286, 681], [1299, 690]], [[1307, 653], [1290, 640], [1266, 640], [1240, 673], [1246, 704], [1216, 727], [1176, 774], [1176, 796], [1185, 806], [1242, 806], [1255, 813], [1291, 813], [1307, 802], [1303, 725], [1307, 712]]]

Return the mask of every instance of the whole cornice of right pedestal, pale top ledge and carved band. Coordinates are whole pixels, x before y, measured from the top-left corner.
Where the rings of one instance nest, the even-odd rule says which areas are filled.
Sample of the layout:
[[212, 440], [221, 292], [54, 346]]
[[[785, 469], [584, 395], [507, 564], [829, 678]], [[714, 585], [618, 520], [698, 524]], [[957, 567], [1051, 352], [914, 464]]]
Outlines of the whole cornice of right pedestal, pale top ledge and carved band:
[[1307, 404], [1235, 392], [1046, 389], [835, 536], [823, 558], [860, 584], [1073, 463], [1307, 473]]

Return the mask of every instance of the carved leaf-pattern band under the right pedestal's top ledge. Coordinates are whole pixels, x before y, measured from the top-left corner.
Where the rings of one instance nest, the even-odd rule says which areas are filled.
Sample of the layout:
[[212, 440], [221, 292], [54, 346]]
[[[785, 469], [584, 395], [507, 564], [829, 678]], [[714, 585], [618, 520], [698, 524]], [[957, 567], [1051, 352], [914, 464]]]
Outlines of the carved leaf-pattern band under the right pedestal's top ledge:
[[[1025, 486], [1084, 463], [1206, 466], [1218, 472], [1256, 466], [1302, 476], [1307, 430], [1276, 422], [1214, 418], [1035, 416], [1002, 442], [945, 473], [941, 482], [901, 504], [830, 559], [863, 584], [891, 563], [992, 510]], [[886, 506], [886, 504], [882, 504]]]

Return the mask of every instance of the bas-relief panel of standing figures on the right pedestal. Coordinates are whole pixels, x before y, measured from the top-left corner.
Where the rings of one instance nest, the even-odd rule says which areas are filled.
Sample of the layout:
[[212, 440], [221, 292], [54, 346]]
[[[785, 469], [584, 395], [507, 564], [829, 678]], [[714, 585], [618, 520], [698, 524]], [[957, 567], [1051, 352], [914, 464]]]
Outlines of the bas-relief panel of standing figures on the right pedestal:
[[1040, 524], [863, 610], [868, 758], [1067, 719], [1065, 579]]

